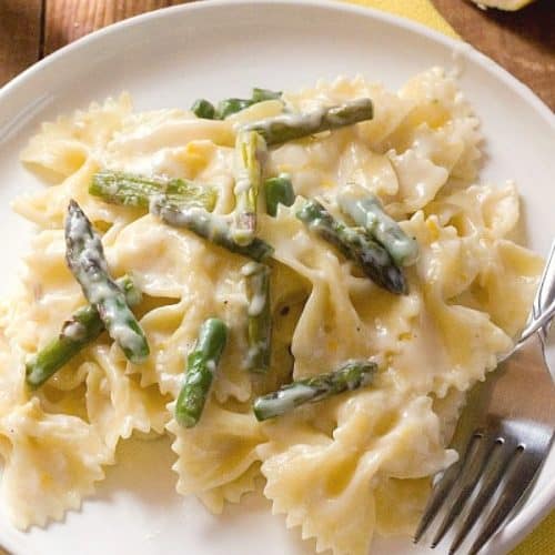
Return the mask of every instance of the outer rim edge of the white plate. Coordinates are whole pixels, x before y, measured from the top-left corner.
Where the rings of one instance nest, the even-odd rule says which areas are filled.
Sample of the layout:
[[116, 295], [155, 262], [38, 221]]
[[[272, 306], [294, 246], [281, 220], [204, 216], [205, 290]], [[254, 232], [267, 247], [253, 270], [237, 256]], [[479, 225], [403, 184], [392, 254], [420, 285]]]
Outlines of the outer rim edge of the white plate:
[[[23, 72], [14, 77], [8, 83], [0, 88], [0, 110], [2, 104], [18, 90], [28, 85], [28, 82], [42, 71], [46, 71], [50, 65], [58, 62], [58, 60], [65, 58], [70, 53], [83, 51], [85, 52], [91, 46], [101, 42], [105, 37], [120, 33], [127, 28], [148, 24], [151, 20], [170, 18], [174, 13], [186, 14], [193, 11], [211, 11], [220, 7], [228, 7], [230, 4], [243, 6], [254, 8], [256, 6], [272, 6], [274, 9], [291, 9], [295, 8], [315, 8], [324, 11], [334, 12], [351, 12], [362, 18], [377, 20], [385, 26], [393, 26], [402, 29], [405, 32], [418, 37], [425, 37], [443, 48], [450, 49], [452, 52], [461, 54], [463, 58], [468, 58], [472, 62], [480, 65], [486, 72], [492, 74], [497, 80], [511, 88], [518, 97], [526, 102], [535, 112], [544, 120], [551, 129], [555, 132], [555, 112], [553, 112], [547, 104], [535, 94], [529, 87], [519, 81], [515, 75], [505, 70], [497, 62], [476, 50], [472, 44], [463, 39], [456, 39], [442, 33], [438, 30], [431, 29], [423, 23], [413, 21], [403, 16], [382, 11], [377, 8], [370, 6], [361, 6], [353, 3], [351, 0], [203, 0], [194, 1], [185, 4], [176, 4], [157, 9], [150, 12], [141, 13], [132, 18], [118, 21], [102, 29], [93, 31], [80, 39], [62, 47], [44, 57], [43, 59], [34, 62], [27, 68]], [[9, 118], [8, 118], [9, 121]], [[0, 120], [0, 129], [3, 127], [3, 121]], [[10, 133], [8, 132], [8, 135]], [[10, 138], [7, 137], [9, 140]], [[555, 450], [555, 447], [552, 447]], [[544, 519], [555, 508], [555, 484], [551, 492], [547, 490], [535, 503], [538, 505], [535, 509], [529, 509], [531, 514], [526, 512], [516, 515], [511, 521], [511, 535], [503, 538], [503, 548], [507, 552], [514, 548], [523, 538], [529, 534], [542, 519]], [[18, 546], [12, 543], [11, 538], [0, 538], [4, 545], [10, 549], [17, 549]]]

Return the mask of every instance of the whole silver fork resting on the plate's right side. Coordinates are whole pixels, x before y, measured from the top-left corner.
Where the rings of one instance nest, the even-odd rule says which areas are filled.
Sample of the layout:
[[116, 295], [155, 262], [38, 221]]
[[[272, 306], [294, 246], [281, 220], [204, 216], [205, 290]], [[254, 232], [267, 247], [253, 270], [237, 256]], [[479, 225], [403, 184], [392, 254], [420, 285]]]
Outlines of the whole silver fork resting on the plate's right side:
[[544, 355], [544, 341], [554, 315], [555, 242], [522, 340], [467, 396], [451, 441], [451, 447], [461, 457], [435, 481], [414, 535], [415, 543], [445, 505], [432, 539], [434, 548], [475, 492], [448, 551], [454, 554], [461, 547], [483, 515], [485, 522], [467, 552], [474, 555], [524, 498], [549, 452], [555, 431], [555, 385]]

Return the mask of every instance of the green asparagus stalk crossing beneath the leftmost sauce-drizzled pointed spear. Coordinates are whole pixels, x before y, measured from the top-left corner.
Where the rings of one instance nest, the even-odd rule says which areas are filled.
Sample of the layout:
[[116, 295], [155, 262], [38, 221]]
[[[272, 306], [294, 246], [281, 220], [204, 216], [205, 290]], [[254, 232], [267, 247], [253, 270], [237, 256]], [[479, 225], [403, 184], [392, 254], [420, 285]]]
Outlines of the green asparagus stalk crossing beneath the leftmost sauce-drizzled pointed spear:
[[[115, 281], [130, 306], [141, 302], [141, 292], [129, 275]], [[63, 323], [58, 337], [36, 353], [26, 364], [26, 380], [32, 387], [40, 387], [79, 351], [90, 345], [104, 330], [98, 310], [88, 304]]]

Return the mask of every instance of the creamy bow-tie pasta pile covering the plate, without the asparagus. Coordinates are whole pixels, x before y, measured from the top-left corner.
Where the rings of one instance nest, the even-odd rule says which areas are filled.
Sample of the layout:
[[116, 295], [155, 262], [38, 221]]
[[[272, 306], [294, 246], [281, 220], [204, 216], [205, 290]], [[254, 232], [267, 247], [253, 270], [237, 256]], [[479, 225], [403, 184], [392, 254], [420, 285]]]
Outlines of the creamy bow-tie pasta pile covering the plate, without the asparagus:
[[[264, 495], [316, 549], [367, 553], [374, 532], [412, 532], [430, 477], [456, 460], [447, 450], [464, 392], [494, 369], [523, 326], [541, 259], [507, 235], [518, 220], [516, 189], [476, 184], [478, 120], [438, 69], [397, 93], [363, 78], [337, 78], [283, 94], [289, 110], [367, 97], [374, 119], [273, 148], [269, 175], [291, 175], [297, 201], [258, 234], [271, 262], [270, 372], [244, 370], [246, 259], [186, 230], [88, 192], [103, 168], [181, 176], [218, 191], [215, 213], [233, 210], [233, 142], [239, 123], [281, 113], [271, 99], [223, 120], [189, 111], [134, 112], [131, 99], [44, 123], [22, 161], [51, 184], [16, 200], [40, 231], [17, 292], [0, 311], [2, 496], [19, 528], [60, 519], [91, 495], [134, 432], [173, 437], [180, 494], [219, 513], [265, 480]], [[392, 295], [295, 218], [299, 198], [332, 203], [347, 184], [377, 195], [416, 238], [407, 295]], [[130, 363], [102, 335], [42, 387], [24, 382], [28, 356], [83, 305], [64, 260], [70, 199], [98, 230], [112, 275], [143, 293], [135, 309], [151, 354]], [[511, 299], [511, 302], [506, 302]], [[202, 418], [173, 418], [185, 360], [199, 327], [218, 314], [230, 336]], [[372, 385], [299, 407], [268, 422], [254, 395], [350, 359], [372, 359]]]

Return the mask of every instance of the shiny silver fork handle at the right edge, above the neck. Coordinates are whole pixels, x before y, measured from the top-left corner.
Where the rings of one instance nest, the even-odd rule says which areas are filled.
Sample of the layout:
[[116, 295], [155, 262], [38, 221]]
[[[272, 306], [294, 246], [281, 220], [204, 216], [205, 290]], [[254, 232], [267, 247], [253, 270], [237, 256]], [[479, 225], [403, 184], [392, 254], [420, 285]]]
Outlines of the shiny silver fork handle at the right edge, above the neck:
[[539, 284], [537, 286], [536, 296], [532, 306], [532, 313], [528, 317], [526, 326], [522, 332], [518, 343], [524, 342], [536, 331], [538, 331], [539, 339], [544, 343], [547, 339], [553, 320], [553, 309], [555, 303], [555, 241], [553, 241], [547, 255], [547, 262], [542, 272]]

